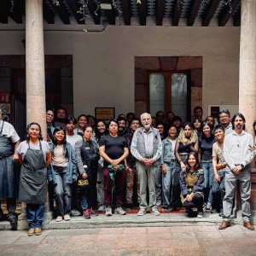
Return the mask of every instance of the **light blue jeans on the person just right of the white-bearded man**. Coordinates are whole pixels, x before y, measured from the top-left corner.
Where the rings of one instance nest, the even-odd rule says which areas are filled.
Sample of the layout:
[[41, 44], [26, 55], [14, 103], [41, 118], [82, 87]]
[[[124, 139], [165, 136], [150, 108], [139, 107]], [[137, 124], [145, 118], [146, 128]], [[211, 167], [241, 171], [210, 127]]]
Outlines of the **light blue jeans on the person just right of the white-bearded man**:
[[166, 166], [166, 173], [162, 173], [163, 180], [163, 205], [170, 206], [171, 204], [171, 195], [173, 187], [173, 176], [175, 172], [176, 162], [164, 163]]

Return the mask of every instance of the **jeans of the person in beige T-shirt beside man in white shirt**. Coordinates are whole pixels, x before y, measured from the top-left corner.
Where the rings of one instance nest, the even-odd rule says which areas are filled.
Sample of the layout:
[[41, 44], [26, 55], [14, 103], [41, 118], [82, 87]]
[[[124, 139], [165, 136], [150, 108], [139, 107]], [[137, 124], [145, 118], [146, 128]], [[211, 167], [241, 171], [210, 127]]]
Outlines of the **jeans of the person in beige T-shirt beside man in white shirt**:
[[223, 209], [223, 200], [225, 195], [225, 174], [224, 171], [218, 171], [218, 176], [220, 177], [220, 182], [213, 181], [212, 183], [212, 208], [217, 211]]

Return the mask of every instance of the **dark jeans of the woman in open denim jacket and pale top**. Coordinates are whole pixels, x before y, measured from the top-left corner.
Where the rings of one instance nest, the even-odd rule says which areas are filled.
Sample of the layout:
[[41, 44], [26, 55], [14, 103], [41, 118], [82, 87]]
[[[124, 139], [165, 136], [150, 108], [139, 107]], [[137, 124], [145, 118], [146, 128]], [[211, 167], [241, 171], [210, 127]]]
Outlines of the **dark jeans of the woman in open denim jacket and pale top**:
[[69, 215], [71, 210], [72, 184], [66, 183], [67, 167], [54, 166], [57, 183], [54, 185], [54, 196], [58, 216]]

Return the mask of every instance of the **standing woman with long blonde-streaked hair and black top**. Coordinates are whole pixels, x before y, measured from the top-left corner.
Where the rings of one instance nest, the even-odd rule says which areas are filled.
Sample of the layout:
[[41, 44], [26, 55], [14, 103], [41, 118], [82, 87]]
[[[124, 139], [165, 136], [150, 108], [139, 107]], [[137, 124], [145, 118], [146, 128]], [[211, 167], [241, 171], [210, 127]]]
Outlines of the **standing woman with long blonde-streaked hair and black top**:
[[181, 205], [179, 175], [181, 170], [186, 167], [190, 152], [198, 152], [198, 138], [196, 131], [193, 130], [192, 124], [190, 122], [186, 122], [183, 124], [183, 128], [179, 132], [175, 146], [177, 162], [175, 166], [175, 173], [173, 175], [171, 210], [175, 210]]

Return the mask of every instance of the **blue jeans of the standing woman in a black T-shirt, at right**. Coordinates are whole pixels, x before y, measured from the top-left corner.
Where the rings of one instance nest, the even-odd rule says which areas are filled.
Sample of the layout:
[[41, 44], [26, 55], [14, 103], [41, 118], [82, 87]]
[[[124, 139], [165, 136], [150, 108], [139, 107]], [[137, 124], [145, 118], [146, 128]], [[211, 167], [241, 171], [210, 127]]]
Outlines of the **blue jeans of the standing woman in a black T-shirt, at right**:
[[212, 183], [214, 179], [212, 159], [211, 160], [201, 160], [201, 167], [204, 171], [204, 201], [212, 203]]

